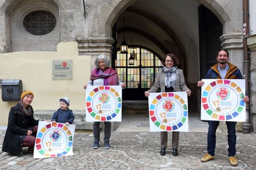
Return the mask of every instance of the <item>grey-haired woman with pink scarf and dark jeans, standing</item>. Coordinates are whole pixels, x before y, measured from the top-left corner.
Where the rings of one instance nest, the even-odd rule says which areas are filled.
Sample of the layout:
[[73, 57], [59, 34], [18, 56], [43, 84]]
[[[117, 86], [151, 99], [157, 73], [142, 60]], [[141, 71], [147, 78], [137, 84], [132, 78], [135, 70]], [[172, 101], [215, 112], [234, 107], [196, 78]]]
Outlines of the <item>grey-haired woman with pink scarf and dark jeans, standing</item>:
[[[120, 85], [125, 88], [126, 84], [119, 81], [116, 71], [109, 67], [109, 60], [104, 54], [99, 55], [94, 62], [96, 68], [93, 69], [88, 84], [84, 85], [84, 89], [87, 86], [117, 86]], [[111, 134], [111, 122], [104, 122], [104, 146], [106, 149], [110, 148], [109, 138]], [[93, 137], [94, 144], [93, 149], [99, 148], [100, 142], [100, 122], [93, 122]]]

